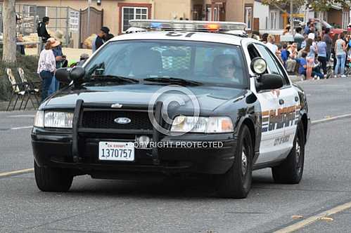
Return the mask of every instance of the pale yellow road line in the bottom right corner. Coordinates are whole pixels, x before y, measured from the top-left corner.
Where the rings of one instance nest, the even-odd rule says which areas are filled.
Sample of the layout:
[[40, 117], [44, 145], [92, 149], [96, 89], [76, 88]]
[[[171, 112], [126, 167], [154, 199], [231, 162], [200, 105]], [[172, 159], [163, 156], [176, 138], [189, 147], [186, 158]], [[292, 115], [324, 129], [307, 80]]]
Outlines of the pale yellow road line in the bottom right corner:
[[311, 223], [313, 222], [316, 222], [317, 220], [320, 220], [321, 218], [324, 218], [324, 217], [327, 217], [327, 216], [330, 216], [330, 215], [333, 215], [333, 214], [336, 214], [336, 213], [339, 213], [339, 212], [342, 212], [342, 211], [345, 211], [347, 210], [348, 208], [351, 208], [351, 201], [350, 202], [347, 202], [345, 204], [342, 204], [340, 206], [336, 206], [334, 208], [331, 208], [327, 211], [324, 211], [322, 213], [319, 213], [317, 215], [313, 215], [309, 218], [306, 218], [305, 220], [301, 220], [299, 222], [296, 222], [295, 224], [293, 225], [290, 225], [288, 227], [284, 227], [283, 229], [279, 229], [277, 230], [276, 232], [274, 233], [289, 233], [289, 232], [295, 232], [297, 231], [298, 229], [301, 229], [307, 225], [310, 225]]

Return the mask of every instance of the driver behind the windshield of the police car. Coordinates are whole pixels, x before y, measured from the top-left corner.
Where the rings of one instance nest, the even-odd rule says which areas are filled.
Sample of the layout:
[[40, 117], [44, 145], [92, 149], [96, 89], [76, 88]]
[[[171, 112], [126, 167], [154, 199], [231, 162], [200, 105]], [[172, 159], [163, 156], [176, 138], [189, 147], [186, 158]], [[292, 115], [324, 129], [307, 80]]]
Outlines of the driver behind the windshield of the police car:
[[219, 79], [227, 79], [239, 83], [233, 55], [217, 55], [213, 60], [213, 70]]

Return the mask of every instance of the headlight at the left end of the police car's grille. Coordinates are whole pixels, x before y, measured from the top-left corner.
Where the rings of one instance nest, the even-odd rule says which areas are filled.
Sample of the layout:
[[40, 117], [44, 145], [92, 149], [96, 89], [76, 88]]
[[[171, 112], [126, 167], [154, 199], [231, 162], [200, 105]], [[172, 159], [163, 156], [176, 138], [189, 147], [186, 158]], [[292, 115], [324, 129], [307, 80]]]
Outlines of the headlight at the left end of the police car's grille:
[[45, 112], [44, 127], [72, 128], [73, 112]]

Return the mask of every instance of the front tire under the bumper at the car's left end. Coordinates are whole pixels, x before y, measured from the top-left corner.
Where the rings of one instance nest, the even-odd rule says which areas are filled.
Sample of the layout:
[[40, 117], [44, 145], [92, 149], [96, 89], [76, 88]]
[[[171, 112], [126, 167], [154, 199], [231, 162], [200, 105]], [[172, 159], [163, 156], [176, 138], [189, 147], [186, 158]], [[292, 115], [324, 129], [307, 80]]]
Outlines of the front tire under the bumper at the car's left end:
[[34, 175], [37, 187], [43, 192], [67, 192], [73, 181], [67, 169], [39, 167], [35, 161]]

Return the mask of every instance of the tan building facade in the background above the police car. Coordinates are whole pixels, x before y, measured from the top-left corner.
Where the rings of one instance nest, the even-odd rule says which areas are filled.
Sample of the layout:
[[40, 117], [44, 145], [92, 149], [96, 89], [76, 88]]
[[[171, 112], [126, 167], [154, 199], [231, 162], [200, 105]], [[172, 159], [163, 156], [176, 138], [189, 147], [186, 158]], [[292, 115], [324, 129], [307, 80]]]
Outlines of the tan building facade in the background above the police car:
[[[0, 0], [1, 2], [1, 0]], [[52, 20], [49, 28], [63, 28], [69, 22], [77, 22], [76, 30], [63, 30], [66, 41], [73, 47], [83, 46], [91, 34], [97, 33], [101, 25], [110, 28], [112, 34], [122, 34], [132, 19], [158, 20], [210, 20], [245, 22], [250, 32], [253, 29], [254, 0], [16, 0], [22, 6], [20, 13], [36, 21], [44, 16]], [[62, 13], [60, 9], [68, 8]], [[71, 11], [75, 13], [71, 14]], [[75, 15], [75, 19], [71, 18]], [[87, 20], [89, 15], [89, 20]], [[66, 20], [67, 18], [67, 20]], [[71, 28], [71, 27], [70, 27]], [[34, 27], [32, 32], [35, 32]]]

